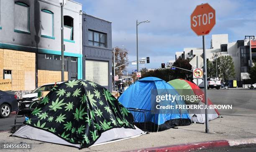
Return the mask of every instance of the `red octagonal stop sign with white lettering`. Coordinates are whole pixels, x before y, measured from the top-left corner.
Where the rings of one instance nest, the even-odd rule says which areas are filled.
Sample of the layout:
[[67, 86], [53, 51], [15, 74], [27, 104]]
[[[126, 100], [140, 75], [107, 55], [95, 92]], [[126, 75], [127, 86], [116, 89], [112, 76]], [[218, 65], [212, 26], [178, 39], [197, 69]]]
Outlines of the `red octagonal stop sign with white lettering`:
[[215, 10], [208, 4], [197, 5], [190, 16], [190, 26], [198, 35], [207, 35], [215, 25]]

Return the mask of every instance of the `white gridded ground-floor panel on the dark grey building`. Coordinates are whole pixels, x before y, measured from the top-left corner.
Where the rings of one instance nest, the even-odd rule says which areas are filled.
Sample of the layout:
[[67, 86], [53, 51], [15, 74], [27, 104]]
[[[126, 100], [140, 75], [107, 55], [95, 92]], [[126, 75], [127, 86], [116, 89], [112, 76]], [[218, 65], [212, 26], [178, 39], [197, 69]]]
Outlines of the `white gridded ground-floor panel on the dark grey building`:
[[85, 80], [108, 86], [108, 61], [85, 61]]

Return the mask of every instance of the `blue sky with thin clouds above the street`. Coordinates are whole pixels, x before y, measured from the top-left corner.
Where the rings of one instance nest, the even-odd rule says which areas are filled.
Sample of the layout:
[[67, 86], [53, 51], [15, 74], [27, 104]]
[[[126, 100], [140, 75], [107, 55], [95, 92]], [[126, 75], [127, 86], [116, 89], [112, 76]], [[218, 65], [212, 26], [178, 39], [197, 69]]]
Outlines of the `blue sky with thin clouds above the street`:
[[[190, 28], [190, 15], [197, 5], [209, 3], [216, 12], [216, 24], [206, 36], [228, 34], [229, 42], [256, 35], [256, 0], [75, 0], [83, 11], [112, 22], [112, 47], [124, 46], [129, 61], [136, 60], [136, 20], [150, 20], [138, 26], [139, 59], [150, 57], [143, 68], [159, 68], [175, 60], [183, 48], [202, 48], [202, 36]], [[136, 65], [129, 64], [131, 73]], [[126, 73], [126, 72], [125, 72]]]

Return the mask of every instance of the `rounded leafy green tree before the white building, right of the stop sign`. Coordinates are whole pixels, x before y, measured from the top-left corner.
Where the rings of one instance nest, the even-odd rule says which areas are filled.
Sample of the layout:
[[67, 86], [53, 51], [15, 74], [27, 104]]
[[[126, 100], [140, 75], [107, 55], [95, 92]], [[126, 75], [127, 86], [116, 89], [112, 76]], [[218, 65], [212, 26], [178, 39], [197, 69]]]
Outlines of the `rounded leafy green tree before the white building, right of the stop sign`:
[[224, 81], [228, 80], [230, 77], [235, 77], [235, 66], [231, 56], [220, 56], [217, 62], [219, 76], [223, 78]]

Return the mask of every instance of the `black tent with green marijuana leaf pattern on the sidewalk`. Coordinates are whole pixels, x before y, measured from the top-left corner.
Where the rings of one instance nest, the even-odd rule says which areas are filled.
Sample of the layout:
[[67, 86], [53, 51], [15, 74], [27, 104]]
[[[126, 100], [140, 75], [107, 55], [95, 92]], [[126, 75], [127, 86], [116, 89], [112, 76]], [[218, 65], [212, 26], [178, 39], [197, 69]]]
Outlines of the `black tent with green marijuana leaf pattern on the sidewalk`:
[[133, 123], [107, 89], [72, 80], [55, 86], [13, 136], [84, 148], [143, 134]]

